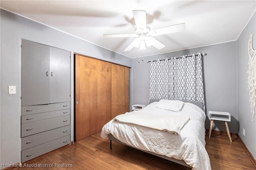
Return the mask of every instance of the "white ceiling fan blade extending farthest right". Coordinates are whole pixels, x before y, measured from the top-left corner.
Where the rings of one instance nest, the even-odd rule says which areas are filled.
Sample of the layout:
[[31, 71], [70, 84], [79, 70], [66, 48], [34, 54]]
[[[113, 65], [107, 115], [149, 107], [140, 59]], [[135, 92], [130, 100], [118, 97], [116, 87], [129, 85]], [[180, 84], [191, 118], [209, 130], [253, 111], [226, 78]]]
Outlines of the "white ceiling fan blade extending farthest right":
[[184, 31], [185, 29], [186, 29], [185, 23], [179, 23], [179, 24], [176, 24], [176, 25], [170, 25], [170, 26], [167, 26], [167, 27], [153, 29], [149, 32], [149, 35], [151, 35], [151, 36], [164, 35], [164, 34]]

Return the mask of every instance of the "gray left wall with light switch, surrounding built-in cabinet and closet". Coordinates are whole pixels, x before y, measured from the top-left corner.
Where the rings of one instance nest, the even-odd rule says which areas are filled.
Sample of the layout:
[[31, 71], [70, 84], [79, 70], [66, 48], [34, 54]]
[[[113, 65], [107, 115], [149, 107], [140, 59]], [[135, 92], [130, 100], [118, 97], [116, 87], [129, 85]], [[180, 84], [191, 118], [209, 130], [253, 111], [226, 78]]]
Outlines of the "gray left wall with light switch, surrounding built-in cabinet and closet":
[[[76, 37], [62, 33], [40, 23], [22, 18], [1, 9], [1, 62], [0, 62], [0, 164], [20, 162], [20, 43], [26, 39], [52, 47], [71, 51], [71, 91], [74, 91], [74, 57], [79, 53], [132, 66], [132, 59], [113, 53]], [[8, 86], [16, 86], [16, 94], [8, 95]], [[71, 93], [72, 94], [72, 93]], [[74, 95], [71, 96], [74, 102]], [[74, 129], [74, 107], [71, 107], [71, 123]], [[73, 135], [71, 134], [73, 137]], [[73, 139], [72, 139], [73, 140]], [[4, 168], [4, 167], [1, 167]]]

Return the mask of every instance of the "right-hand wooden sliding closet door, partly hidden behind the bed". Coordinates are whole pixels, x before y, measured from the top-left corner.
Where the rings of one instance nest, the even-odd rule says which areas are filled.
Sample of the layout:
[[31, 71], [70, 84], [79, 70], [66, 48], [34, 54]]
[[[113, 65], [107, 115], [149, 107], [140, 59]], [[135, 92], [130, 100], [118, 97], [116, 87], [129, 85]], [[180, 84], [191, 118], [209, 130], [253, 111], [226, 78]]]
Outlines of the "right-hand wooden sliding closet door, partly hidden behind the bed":
[[112, 64], [112, 115], [117, 115], [129, 111], [129, 68]]

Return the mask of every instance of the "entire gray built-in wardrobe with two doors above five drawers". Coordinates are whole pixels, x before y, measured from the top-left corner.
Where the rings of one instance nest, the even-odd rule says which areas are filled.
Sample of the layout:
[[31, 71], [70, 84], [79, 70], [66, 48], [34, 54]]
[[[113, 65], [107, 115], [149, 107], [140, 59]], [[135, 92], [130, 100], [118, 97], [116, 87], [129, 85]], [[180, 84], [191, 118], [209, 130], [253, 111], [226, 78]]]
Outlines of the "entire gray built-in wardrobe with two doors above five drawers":
[[70, 144], [70, 51], [22, 40], [21, 162]]

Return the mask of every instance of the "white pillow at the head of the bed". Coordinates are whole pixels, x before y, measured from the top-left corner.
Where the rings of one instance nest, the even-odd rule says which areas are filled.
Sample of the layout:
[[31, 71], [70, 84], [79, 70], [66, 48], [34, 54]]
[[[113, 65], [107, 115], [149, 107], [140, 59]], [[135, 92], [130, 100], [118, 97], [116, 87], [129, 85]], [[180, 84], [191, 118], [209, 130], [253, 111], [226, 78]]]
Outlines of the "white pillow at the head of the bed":
[[184, 105], [184, 102], [179, 100], [161, 99], [155, 105], [155, 107], [158, 107], [160, 109], [170, 110], [170, 111], [181, 111], [183, 105]]

